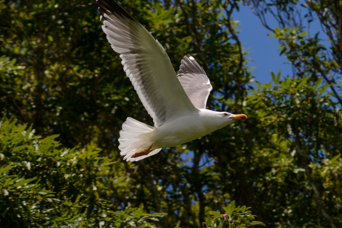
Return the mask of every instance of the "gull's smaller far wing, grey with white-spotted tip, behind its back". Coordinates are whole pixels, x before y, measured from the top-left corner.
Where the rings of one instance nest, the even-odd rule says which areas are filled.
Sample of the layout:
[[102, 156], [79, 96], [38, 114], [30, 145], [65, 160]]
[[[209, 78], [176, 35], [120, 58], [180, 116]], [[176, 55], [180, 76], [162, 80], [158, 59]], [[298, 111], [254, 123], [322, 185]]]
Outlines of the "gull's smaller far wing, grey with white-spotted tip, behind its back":
[[184, 56], [177, 76], [194, 106], [206, 108], [209, 93], [213, 88], [206, 72], [194, 57], [189, 54]]

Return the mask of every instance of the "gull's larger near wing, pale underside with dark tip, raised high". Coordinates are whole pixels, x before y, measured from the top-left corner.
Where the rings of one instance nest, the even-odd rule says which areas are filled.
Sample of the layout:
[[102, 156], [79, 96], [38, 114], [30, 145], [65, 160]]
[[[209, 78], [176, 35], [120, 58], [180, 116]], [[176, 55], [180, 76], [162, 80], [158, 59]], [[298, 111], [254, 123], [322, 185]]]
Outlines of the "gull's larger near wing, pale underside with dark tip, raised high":
[[161, 44], [114, 0], [97, 0], [102, 30], [155, 126], [196, 110]]

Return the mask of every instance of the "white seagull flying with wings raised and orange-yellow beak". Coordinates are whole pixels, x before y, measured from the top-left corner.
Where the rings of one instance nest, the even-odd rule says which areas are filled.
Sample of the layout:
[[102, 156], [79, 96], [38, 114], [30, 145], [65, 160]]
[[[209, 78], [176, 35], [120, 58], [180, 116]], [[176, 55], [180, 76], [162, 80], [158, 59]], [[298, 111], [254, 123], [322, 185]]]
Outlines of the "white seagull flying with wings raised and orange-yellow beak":
[[150, 126], [126, 119], [118, 139], [123, 160], [139, 161], [247, 119], [245, 114], [206, 109], [212, 86], [193, 56], [184, 56], [176, 75], [163, 46], [118, 2], [97, 4], [102, 30], [154, 122]]

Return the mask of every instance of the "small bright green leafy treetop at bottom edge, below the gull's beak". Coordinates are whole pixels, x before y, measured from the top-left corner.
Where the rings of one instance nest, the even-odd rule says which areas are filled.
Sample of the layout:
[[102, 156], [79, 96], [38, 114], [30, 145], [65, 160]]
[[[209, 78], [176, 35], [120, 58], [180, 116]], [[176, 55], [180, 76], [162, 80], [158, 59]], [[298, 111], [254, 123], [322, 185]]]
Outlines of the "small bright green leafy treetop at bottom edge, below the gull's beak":
[[210, 212], [211, 218], [208, 218], [206, 222], [203, 222], [204, 227], [207, 228], [243, 228], [252, 227], [254, 225], [263, 225], [262, 222], [254, 221], [255, 215], [248, 211], [250, 207], [246, 206], [235, 206], [235, 201], [232, 201], [227, 207], [223, 207], [226, 214], [220, 212]]

